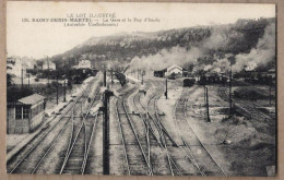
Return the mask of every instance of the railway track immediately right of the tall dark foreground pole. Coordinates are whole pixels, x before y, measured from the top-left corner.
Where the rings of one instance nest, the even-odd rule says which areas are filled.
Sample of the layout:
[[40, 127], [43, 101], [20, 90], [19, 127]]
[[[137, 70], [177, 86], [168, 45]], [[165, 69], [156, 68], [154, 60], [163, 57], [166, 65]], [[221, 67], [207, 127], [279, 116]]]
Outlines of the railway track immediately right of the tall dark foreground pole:
[[150, 175], [152, 176], [151, 165], [149, 158], [143, 149], [146, 141], [139, 139], [138, 132], [134, 128], [132, 119], [128, 113], [126, 99], [135, 92], [137, 88], [130, 88], [123, 93], [121, 99], [116, 101], [117, 120], [123, 145], [125, 159], [127, 163], [128, 175]]

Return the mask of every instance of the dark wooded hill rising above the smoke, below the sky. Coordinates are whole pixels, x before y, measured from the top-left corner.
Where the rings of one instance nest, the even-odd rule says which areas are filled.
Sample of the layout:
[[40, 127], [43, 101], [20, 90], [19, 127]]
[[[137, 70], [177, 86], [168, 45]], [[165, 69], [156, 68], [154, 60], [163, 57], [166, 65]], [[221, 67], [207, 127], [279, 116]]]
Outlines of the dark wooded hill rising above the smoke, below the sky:
[[[95, 67], [106, 61], [130, 62], [134, 57], [146, 57], [163, 49], [182, 47], [202, 48], [208, 63], [213, 56], [249, 53], [264, 35], [265, 27], [275, 19], [238, 20], [234, 24], [197, 26], [155, 33], [125, 33], [105, 37], [92, 37], [85, 43], [51, 57], [57, 67], [70, 68], [84, 57]], [[204, 60], [204, 59], [203, 59]]]

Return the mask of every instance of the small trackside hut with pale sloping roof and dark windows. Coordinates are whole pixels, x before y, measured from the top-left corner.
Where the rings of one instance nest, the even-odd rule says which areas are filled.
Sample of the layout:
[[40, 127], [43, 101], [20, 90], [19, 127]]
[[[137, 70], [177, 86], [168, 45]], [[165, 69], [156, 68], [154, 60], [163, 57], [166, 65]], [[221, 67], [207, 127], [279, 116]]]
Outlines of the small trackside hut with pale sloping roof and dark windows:
[[35, 131], [45, 117], [46, 98], [38, 94], [7, 104], [7, 133], [22, 134]]

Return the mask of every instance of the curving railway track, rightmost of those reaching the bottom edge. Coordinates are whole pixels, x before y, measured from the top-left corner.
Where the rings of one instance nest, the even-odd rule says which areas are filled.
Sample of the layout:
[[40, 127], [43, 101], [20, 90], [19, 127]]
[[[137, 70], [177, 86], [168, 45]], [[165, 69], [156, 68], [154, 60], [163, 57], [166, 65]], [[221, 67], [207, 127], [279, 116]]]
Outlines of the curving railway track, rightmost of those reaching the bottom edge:
[[175, 106], [175, 121], [176, 127], [178, 128], [177, 132], [184, 142], [184, 148], [190, 160], [196, 166], [199, 175], [226, 177], [225, 171], [213, 158], [190, 125], [187, 117], [187, 97], [189, 94], [190, 92], [185, 93], [185, 91], [182, 91], [182, 94]]

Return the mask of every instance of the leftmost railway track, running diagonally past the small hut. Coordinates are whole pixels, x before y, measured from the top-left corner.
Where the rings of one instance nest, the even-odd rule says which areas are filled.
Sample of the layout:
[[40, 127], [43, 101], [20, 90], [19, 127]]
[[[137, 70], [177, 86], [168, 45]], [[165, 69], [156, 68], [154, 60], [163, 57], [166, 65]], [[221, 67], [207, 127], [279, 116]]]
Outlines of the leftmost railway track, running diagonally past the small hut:
[[9, 173], [34, 173], [39, 167], [47, 153], [50, 152], [55, 142], [60, 137], [61, 133], [66, 131], [73, 119], [73, 113], [78, 110], [76, 107], [80, 99], [84, 98], [90, 85], [84, 92], [75, 98], [74, 103], [68, 107], [63, 116], [47, 130], [44, 130], [37, 137], [27, 143], [26, 147], [19, 154], [12, 157], [7, 163]]

